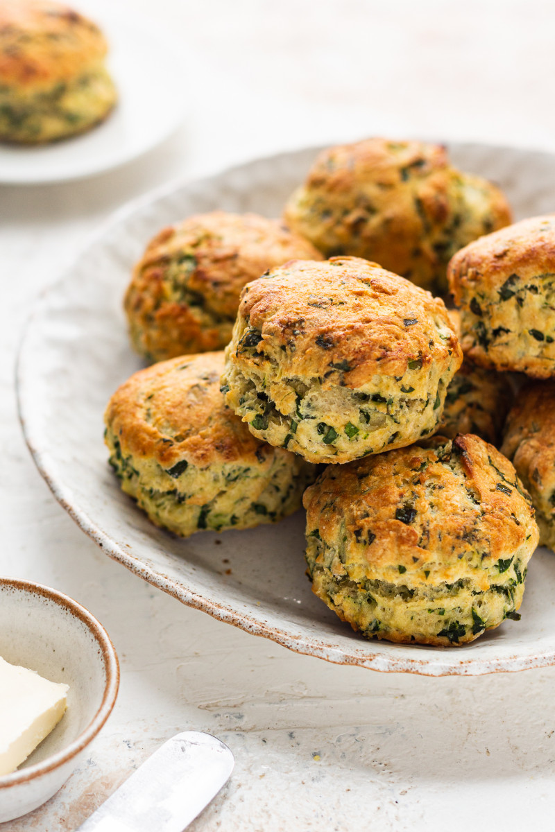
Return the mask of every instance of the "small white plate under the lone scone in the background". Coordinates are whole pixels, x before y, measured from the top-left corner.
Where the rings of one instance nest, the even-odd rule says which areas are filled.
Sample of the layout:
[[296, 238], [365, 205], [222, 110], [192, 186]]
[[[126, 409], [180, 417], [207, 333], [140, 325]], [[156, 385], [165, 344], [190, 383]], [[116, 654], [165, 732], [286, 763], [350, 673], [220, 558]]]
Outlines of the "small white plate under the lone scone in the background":
[[75, 5], [107, 36], [116, 108], [82, 136], [37, 147], [0, 144], [0, 182], [40, 185], [109, 171], [160, 144], [183, 121], [190, 76], [171, 33], [136, 15], [118, 16], [99, 0]]

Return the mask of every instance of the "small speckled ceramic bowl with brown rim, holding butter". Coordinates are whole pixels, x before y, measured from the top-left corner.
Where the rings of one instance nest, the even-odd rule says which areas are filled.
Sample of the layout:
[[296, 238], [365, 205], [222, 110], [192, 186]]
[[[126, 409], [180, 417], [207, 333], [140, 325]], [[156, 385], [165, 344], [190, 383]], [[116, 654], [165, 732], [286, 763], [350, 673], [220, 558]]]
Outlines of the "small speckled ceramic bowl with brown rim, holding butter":
[[72, 598], [0, 578], [0, 656], [69, 685], [56, 728], [10, 775], [0, 776], [0, 822], [36, 809], [67, 780], [110, 715], [119, 686], [107, 631]]

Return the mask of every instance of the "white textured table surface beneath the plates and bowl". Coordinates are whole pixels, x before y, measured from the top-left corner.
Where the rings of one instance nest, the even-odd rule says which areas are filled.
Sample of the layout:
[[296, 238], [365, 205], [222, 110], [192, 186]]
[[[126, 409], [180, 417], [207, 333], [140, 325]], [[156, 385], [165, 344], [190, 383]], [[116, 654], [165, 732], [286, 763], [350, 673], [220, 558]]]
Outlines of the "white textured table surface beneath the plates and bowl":
[[55, 503], [22, 441], [12, 370], [37, 292], [111, 211], [153, 186], [372, 133], [555, 150], [555, 8], [474, 0], [132, 7], [156, 9], [191, 52], [186, 126], [107, 176], [0, 187], [0, 571], [82, 602], [107, 627], [122, 671], [116, 709], [87, 763], [42, 809], [0, 830], [75, 830], [180, 730], [209, 730], [235, 754], [229, 785], [191, 827], [199, 832], [550, 828], [555, 668], [385, 676], [295, 655], [181, 606], [108, 560]]

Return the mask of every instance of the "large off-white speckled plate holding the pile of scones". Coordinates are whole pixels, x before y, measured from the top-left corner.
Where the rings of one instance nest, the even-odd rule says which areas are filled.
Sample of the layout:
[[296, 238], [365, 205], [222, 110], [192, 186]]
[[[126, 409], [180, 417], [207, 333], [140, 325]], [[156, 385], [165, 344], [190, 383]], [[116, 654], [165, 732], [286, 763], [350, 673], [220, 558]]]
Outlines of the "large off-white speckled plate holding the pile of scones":
[[[473, 145], [450, 150], [463, 170], [498, 181], [519, 216], [555, 209], [555, 156]], [[279, 215], [314, 156], [310, 149], [254, 161], [136, 203], [42, 295], [18, 368], [22, 424], [37, 466], [110, 557], [191, 607], [291, 650], [430, 676], [553, 664], [555, 556], [546, 550], [530, 565], [521, 622], [504, 622], [460, 648], [365, 641], [310, 592], [301, 513], [276, 526], [201, 532], [183, 541], [152, 526], [108, 468], [102, 413], [117, 385], [140, 367], [127, 343], [121, 296], [146, 241], [197, 211]]]

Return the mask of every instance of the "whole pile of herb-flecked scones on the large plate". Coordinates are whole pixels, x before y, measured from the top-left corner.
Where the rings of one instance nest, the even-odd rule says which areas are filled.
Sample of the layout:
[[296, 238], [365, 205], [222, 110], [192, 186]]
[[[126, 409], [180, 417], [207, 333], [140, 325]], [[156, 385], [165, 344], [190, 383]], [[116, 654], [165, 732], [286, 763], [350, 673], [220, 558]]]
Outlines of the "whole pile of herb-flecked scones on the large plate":
[[321, 153], [283, 222], [161, 231], [125, 299], [158, 363], [106, 413], [121, 488], [182, 536], [304, 506], [313, 591], [363, 636], [518, 620], [555, 547], [555, 215], [511, 219], [443, 147], [369, 139]]

